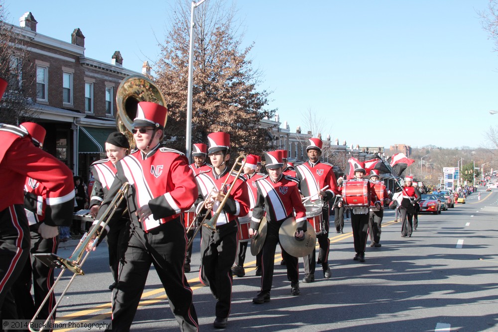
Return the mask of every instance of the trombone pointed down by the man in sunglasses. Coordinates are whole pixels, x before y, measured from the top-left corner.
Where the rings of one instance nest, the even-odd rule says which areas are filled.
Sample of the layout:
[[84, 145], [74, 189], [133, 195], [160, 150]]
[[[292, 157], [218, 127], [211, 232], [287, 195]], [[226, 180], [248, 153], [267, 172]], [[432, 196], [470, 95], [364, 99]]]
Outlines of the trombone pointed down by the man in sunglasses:
[[[62, 299], [64, 298], [64, 295], [66, 292], [69, 290], [69, 286], [74, 281], [74, 278], [77, 275], [84, 275], [85, 273], [82, 270], [83, 263], [88, 258], [88, 255], [92, 251], [92, 249], [97, 245], [99, 242], [99, 239], [102, 235], [102, 230], [106, 228], [107, 224], [113, 217], [114, 213], [120, 206], [120, 204], [123, 202], [124, 198], [126, 197], [126, 193], [128, 192], [129, 189], [129, 183], [125, 182], [123, 186], [121, 186], [120, 190], [118, 191], [118, 194], [114, 197], [114, 199], [111, 201], [109, 204], [109, 207], [106, 209], [104, 214], [102, 215], [100, 221], [98, 221], [93, 227], [92, 230], [88, 233], [85, 233], [83, 237], [80, 240], [80, 243], [78, 243], [78, 246], [74, 249], [73, 253], [69, 258], [65, 259], [60, 256], [57, 256], [56, 254], [53, 253], [40, 253], [40, 254], [33, 254], [35, 258], [40, 260], [43, 264], [47, 265], [48, 267], [51, 268], [62, 268], [62, 271], [59, 273], [59, 276], [55, 280], [54, 284], [48, 291], [47, 296], [43, 300], [43, 302], [40, 304], [40, 307], [34, 314], [33, 318], [30, 321], [30, 328], [29, 331], [31, 332], [41, 332], [43, 331], [44, 327], [47, 325], [47, 323], [50, 321], [52, 316], [54, 315], [55, 311], [57, 310], [57, 307], [61, 303]], [[93, 241], [93, 243], [91, 243]], [[85, 254], [86, 251], [86, 254]], [[73, 258], [74, 257], [74, 258]], [[50, 299], [52, 294], [54, 294], [55, 287], [57, 286], [57, 283], [59, 280], [62, 278], [62, 275], [66, 270], [69, 270], [73, 272], [72, 278], [69, 280], [66, 288], [62, 291], [62, 294], [60, 295], [59, 299], [55, 303], [54, 308], [48, 315], [47, 319], [45, 322], [43, 322], [43, 325], [40, 330], [33, 330], [31, 326], [34, 326], [34, 321], [36, 317], [40, 314], [40, 311], [42, 310], [43, 306], [45, 303]]]

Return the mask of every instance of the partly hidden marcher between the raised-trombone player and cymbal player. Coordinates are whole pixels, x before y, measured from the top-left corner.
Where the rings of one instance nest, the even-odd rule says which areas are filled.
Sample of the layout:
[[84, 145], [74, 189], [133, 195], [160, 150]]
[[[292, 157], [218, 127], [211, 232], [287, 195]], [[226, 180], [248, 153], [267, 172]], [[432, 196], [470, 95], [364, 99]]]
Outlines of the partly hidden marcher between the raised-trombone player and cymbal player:
[[[246, 157], [246, 163], [244, 164], [244, 177], [246, 178], [246, 184], [248, 186], [248, 191], [249, 191], [249, 213], [245, 218], [249, 218], [249, 222], [250, 218], [252, 217], [252, 209], [254, 209], [254, 204], [256, 203], [257, 190], [256, 190], [255, 181], [265, 176], [264, 174], [256, 172], [256, 162], [257, 162], [257, 157], [253, 154], [249, 154]], [[241, 222], [240, 219], [239, 222]], [[234, 266], [232, 267], [232, 274], [238, 277], [244, 277], [246, 275], [246, 270], [244, 269], [244, 262], [246, 261], [246, 251], [248, 249], [248, 241], [239, 241], [239, 242], [240, 242], [239, 251], [237, 257], [235, 258]]]

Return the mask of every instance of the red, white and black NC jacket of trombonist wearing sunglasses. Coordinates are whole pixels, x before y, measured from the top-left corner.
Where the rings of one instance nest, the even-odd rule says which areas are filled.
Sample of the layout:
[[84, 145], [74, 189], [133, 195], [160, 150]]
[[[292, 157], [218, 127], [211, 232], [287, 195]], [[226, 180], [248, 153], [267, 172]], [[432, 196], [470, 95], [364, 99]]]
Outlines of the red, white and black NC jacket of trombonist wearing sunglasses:
[[140, 150], [133, 152], [121, 159], [116, 167], [116, 179], [104, 197], [96, 222], [125, 182], [130, 184], [130, 188], [126, 194], [127, 204], [121, 204], [110, 220], [111, 228], [114, 222], [120, 221], [126, 206], [131, 221], [139, 223], [135, 212], [148, 205], [152, 215], [139, 223], [148, 232], [165, 222], [180, 218], [197, 197], [194, 175], [187, 158], [179, 151], [156, 145], [148, 153]]

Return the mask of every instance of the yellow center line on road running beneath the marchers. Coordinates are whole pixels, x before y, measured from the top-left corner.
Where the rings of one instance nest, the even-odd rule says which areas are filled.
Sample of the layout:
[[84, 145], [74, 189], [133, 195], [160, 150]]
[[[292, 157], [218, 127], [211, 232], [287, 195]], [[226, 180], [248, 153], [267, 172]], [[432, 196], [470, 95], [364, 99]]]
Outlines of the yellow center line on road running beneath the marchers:
[[[393, 223], [397, 223], [397, 222], [395, 222], [395, 221], [387, 221], [385, 223], [383, 222], [382, 226], [388, 226], [388, 225], [393, 224]], [[347, 232], [344, 234], [339, 234], [339, 235], [329, 237], [329, 239], [330, 239], [331, 243], [336, 243], [336, 242], [342, 241], [344, 239], [350, 238], [352, 236], [353, 236], [353, 232]], [[315, 247], [318, 248], [318, 246], [319, 245], [317, 243]], [[280, 253], [276, 253], [274, 262], [275, 263], [280, 262], [281, 259], [282, 259], [282, 257], [280, 256]], [[247, 265], [249, 265], [249, 267], [245, 267], [246, 272], [254, 271], [256, 269], [256, 266], [255, 266], [256, 261], [255, 260], [247, 263]], [[197, 289], [205, 286], [204, 284], [201, 283], [201, 281], [199, 280], [199, 277], [192, 278], [192, 279], [188, 280], [188, 283], [190, 285], [190, 288], [192, 289], [192, 292], [194, 290], [197, 290]], [[160, 295], [155, 296], [157, 294], [160, 294]], [[153, 297], [153, 296], [155, 296], [155, 297]], [[152, 298], [150, 298], [150, 297], [152, 297]], [[141, 300], [140, 300], [140, 303], [138, 304], [138, 308], [156, 304], [158, 302], [166, 300], [167, 298], [168, 297], [166, 296], [164, 288], [157, 288], [157, 289], [153, 289], [153, 290], [144, 292], [144, 293], [142, 293], [142, 296], [140, 298]], [[89, 315], [92, 315], [93, 313], [96, 313], [96, 312], [99, 312], [102, 310], [106, 310], [107, 312], [101, 313], [99, 315], [88, 317]], [[112, 314], [111, 304], [107, 303], [107, 304], [98, 305], [96, 307], [93, 307], [92, 309], [85, 309], [85, 310], [74, 312], [72, 314], [57, 317], [55, 321], [56, 321], [56, 323], [62, 323], [65, 321], [75, 321], [75, 320], [81, 318], [79, 321], [84, 323], [84, 322], [89, 322], [89, 321], [108, 320], [111, 318], [111, 314]], [[82, 317], [85, 317], [85, 318], [82, 318]], [[66, 331], [72, 331], [72, 330], [74, 330], [74, 329], [60, 329], [60, 330], [57, 330], [57, 332], [66, 332]]]

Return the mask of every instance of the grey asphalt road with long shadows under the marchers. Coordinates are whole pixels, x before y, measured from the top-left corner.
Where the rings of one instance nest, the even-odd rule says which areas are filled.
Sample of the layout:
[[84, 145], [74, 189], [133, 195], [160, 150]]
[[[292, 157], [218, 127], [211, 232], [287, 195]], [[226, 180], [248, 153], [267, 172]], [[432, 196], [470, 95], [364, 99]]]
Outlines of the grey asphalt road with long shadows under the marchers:
[[[332, 278], [323, 279], [318, 266], [314, 283], [300, 283], [301, 296], [290, 295], [277, 253], [271, 301], [253, 304], [260, 277], [254, 275], [255, 259], [248, 250], [246, 276], [234, 278], [226, 330], [498, 331], [498, 189], [480, 191], [480, 201], [475, 193], [466, 204], [441, 215], [419, 216], [418, 230], [410, 238], [401, 237], [401, 223], [393, 221], [393, 211], [386, 211], [382, 247], [367, 246], [365, 263], [353, 261], [353, 235], [346, 221], [344, 234], [329, 234]], [[71, 245], [66, 242], [59, 254], [69, 256]], [[200, 330], [213, 331], [215, 300], [199, 282], [199, 262], [197, 239], [187, 279], [194, 290]], [[300, 259], [301, 278], [302, 264]], [[77, 276], [63, 299], [58, 318], [110, 319], [112, 277], [106, 244], [90, 254], [83, 270], [85, 275]], [[69, 277], [63, 277], [58, 289]], [[178, 330], [153, 267], [131, 330]]]

